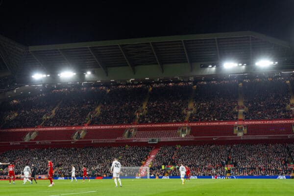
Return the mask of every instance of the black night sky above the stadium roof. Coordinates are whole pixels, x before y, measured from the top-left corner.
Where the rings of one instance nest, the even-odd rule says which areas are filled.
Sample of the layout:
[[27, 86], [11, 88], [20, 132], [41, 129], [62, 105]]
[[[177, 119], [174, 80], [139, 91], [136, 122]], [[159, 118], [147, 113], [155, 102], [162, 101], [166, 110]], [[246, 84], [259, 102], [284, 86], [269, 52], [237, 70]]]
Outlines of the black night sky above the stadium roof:
[[24, 45], [242, 30], [294, 42], [294, 0], [0, 1], [0, 34]]

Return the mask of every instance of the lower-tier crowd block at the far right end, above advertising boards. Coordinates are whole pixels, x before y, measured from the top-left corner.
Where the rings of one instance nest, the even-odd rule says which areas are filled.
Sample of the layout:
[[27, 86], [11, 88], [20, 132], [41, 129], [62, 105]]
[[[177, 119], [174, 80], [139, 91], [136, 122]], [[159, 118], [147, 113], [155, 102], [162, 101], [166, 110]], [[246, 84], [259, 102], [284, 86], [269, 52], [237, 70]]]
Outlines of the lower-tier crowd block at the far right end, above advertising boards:
[[293, 144], [234, 145], [231, 148], [232, 175], [287, 175], [293, 160]]

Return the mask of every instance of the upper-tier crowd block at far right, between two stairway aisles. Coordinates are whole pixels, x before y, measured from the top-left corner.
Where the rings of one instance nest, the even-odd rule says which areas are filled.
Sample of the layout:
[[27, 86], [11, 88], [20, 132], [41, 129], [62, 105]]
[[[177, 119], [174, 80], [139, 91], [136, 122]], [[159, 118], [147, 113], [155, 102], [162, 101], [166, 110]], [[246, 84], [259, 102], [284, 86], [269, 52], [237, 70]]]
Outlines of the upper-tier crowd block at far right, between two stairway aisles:
[[290, 93], [282, 78], [254, 79], [243, 82], [246, 120], [290, 119], [293, 112], [286, 108], [290, 104]]

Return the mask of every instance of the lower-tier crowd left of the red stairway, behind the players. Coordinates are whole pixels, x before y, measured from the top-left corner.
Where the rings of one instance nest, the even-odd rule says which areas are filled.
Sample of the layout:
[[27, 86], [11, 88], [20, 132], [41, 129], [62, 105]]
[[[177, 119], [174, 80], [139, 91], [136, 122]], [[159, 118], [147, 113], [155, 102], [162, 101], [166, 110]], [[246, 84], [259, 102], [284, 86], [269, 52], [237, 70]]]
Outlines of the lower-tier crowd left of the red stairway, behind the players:
[[[46, 148], [20, 149], [4, 152], [0, 155], [2, 162], [15, 162], [16, 175], [22, 174], [25, 166], [36, 165], [38, 174], [48, 173], [48, 158], [52, 160], [55, 176], [71, 176], [72, 165], [76, 175], [82, 176], [83, 165], [89, 176], [111, 176], [110, 167], [115, 157], [122, 167], [140, 167], [152, 147], [87, 147], [87, 148]], [[3, 167], [4, 168], [4, 167]], [[2, 171], [7, 174], [7, 169]]]

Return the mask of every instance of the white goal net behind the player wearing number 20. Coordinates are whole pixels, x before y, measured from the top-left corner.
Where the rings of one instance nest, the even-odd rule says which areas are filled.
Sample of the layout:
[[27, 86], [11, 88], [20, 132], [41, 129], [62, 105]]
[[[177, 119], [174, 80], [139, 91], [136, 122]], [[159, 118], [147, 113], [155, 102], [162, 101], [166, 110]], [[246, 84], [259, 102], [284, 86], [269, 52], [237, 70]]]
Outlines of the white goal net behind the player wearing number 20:
[[149, 167], [121, 167], [120, 176], [125, 178], [149, 178]]

